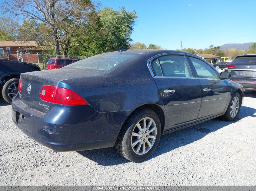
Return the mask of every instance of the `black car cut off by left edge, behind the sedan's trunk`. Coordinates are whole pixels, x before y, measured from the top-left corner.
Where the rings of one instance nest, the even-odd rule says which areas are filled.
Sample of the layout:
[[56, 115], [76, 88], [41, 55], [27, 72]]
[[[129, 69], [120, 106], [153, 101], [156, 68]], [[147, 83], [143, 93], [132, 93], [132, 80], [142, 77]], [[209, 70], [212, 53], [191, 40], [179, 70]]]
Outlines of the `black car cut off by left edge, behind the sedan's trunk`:
[[36, 64], [0, 59], [0, 95], [8, 103], [18, 93], [18, 83], [21, 73], [38, 71]]

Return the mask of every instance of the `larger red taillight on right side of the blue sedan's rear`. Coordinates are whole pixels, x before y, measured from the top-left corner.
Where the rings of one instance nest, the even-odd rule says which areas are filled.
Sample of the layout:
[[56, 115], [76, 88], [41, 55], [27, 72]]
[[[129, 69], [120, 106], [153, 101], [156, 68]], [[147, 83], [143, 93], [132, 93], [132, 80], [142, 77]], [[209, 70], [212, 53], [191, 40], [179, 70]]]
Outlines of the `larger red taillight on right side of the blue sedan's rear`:
[[62, 105], [88, 105], [80, 95], [67, 88], [45, 85], [41, 89], [40, 98], [43, 101]]

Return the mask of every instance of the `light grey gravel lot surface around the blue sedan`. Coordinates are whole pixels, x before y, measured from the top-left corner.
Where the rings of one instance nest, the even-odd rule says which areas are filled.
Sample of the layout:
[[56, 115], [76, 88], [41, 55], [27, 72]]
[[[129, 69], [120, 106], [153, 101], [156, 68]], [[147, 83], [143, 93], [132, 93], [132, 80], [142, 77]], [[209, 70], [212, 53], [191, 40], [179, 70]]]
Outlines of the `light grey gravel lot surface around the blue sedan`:
[[163, 135], [153, 156], [128, 162], [114, 148], [54, 152], [20, 132], [0, 99], [0, 185], [256, 185], [256, 92], [239, 120]]

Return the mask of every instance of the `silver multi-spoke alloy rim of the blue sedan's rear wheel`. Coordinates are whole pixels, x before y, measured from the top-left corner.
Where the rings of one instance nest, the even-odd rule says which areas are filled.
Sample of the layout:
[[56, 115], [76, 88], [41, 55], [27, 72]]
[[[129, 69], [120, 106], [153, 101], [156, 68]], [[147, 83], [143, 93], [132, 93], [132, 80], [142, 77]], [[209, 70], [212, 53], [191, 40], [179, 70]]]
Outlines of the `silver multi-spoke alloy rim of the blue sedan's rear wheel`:
[[147, 153], [155, 143], [157, 135], [156, 123], [150, 117], [140, 119], [131, 135], [132, 150], [139, 155]]

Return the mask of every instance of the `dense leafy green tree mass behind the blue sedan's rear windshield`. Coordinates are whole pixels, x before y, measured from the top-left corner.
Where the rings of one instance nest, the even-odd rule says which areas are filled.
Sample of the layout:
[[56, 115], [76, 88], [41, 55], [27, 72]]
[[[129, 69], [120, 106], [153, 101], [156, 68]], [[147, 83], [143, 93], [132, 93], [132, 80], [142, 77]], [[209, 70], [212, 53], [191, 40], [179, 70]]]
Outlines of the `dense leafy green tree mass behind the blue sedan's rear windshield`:
[[119, 47], [129, 49], [131, 33], [137, 14], [125, 8], [114, 10], [104, 7], [89, 14], [90, 20], [83, 30], [74, 37], [78, 39], [71, 46], [69, 53], [92, 56], [98, 53], [117, 51]]

